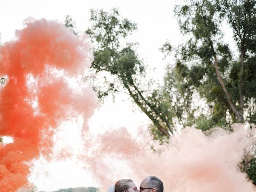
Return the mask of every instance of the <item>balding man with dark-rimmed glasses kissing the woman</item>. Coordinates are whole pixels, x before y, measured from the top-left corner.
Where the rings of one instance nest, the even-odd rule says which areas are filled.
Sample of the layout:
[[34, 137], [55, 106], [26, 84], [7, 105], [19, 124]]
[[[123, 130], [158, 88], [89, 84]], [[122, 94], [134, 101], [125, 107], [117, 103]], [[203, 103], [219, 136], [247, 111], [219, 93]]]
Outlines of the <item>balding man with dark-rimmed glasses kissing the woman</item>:
[[140, 192], [164, 192], [163, 182], [155, 176], [146, 177], [140, 184]]

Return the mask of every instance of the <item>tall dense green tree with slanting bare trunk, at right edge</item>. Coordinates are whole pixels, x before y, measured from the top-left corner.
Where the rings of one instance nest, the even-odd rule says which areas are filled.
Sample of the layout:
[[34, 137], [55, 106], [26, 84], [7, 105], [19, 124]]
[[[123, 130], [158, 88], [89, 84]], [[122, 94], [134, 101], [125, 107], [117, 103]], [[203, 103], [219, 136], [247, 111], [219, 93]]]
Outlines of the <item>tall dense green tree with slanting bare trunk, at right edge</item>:
[[[179, 87], [183, 98], [198, 92], [206, 100], [210, 120], [204, 115], [192, 117], [200, 128], [208, 129], [219, 122], [256, 122], [255, 4], [255, 0], [189, 0], [175, 8], [180, 32], [189, 38], [176, 48], [167, 42], [161, 50], [175, 54], [176, 66], [169, 73], [182, 80]], [[224, 21], [233, 30], [237, 51], [223, 42], [220, 28]]]

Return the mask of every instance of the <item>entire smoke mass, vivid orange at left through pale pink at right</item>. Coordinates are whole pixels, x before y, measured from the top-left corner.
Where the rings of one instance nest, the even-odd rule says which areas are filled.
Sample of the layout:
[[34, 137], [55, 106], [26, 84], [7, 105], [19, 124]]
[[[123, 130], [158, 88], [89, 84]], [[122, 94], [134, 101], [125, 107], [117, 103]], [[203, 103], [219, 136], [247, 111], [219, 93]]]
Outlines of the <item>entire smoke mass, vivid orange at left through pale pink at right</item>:
[[67, 79], [81, 78], [91, 62], [88, 36], [76, 36], [45, 19], [28, 18], [16, 39], [0, 46], [0, 76], [6, 77], [0, 88], [0, 136], [13, 138], [0, 144], [0, 192], [26, 185], [35, 158], [73, 155], [67, 146], [54, 150], [53, 138], [65, 121], [79, 122], [82, 149], [76, 156], [102, 191], [116, 180], [131, 178], [139, 185], [150, 175], [161, 178], [167, 192], [256, 191], [238, 167], [244, 152], [253, 150], [255, 128], [238, 125], [232, 133], [216, 129], [206, 136], [188, 127], [160, 153], [150, 149], [147, 132], [138, 138], [126, 128], [90, 134], [87, 120], [98, 99], [89, 88], [74, 88]]

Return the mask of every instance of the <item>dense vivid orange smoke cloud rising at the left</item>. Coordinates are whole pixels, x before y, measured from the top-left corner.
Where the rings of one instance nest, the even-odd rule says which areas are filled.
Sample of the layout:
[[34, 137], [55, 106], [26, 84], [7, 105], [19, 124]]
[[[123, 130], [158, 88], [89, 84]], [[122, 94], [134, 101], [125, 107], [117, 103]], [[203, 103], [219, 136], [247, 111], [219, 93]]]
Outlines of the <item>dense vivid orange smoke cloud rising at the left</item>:
[[88, 37], [45, 19], [27, 19], [16, 40], [0, 47], [0, 76], [6, 76], [0, 136], [14, 140], [0, 144], [0, 192], [14, 192], [28, 182], [26, 162], [50, 152], [52, 129], [61, 120], [80, 113], [86, 124], [97, 98], [87, 88], [73, 90], [64, 77], [82, 74], [91, 62]]

